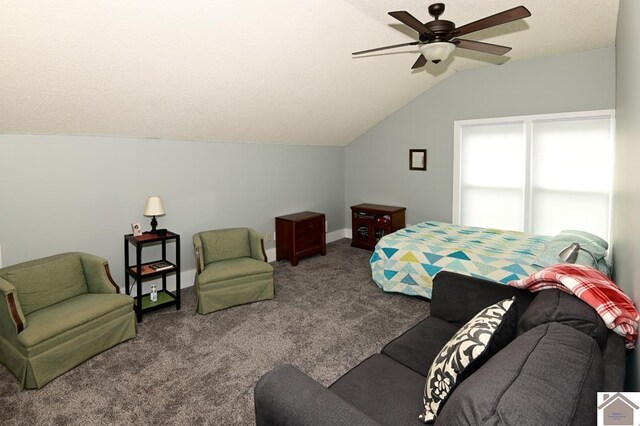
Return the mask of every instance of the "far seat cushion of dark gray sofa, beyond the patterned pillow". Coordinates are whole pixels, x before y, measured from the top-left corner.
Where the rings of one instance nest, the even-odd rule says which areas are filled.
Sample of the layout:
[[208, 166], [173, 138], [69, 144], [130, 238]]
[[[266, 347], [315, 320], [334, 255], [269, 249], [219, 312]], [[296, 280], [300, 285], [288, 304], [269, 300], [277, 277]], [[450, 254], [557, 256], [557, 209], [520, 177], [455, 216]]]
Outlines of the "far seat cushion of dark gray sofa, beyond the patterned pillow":
[[459, 329], [429, 316], [387, 344], [382, 353], [426, 377], [436, 355]]

